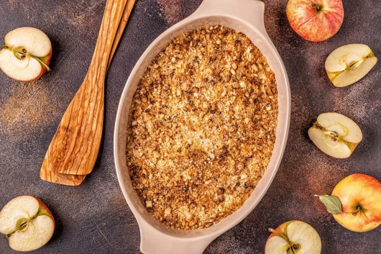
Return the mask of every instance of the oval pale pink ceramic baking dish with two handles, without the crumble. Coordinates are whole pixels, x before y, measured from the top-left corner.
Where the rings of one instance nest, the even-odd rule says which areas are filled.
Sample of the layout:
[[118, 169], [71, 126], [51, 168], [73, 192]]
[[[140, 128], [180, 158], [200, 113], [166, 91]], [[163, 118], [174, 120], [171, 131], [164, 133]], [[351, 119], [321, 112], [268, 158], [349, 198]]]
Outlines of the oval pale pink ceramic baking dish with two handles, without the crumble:
[[[285, 67], [266, 33], [263, 15], [264, 3], [258, 0], [204, 0], [191, 16], [172, 26], [152, 42], [132, 69], [119, 102], [114, 132], [114, 156], [119, 184], [139, 224], [142, 253], [201, 254], [215, 238], [237, 225], [253, 211], [269, 188], [286, 146], [291, 96]], [[275, 72], [279, 104], [275, 146], [266, 172], [239, 210], [206, 229], [172, 229], [156, 220], [141, 204], [136, 191], [132, 189], [126, 163], [128, 110], [139, 79], [147, 66], [172, 39], [202, 26], [217, 24], [246, 34], [267, 58], [268, 64]]]

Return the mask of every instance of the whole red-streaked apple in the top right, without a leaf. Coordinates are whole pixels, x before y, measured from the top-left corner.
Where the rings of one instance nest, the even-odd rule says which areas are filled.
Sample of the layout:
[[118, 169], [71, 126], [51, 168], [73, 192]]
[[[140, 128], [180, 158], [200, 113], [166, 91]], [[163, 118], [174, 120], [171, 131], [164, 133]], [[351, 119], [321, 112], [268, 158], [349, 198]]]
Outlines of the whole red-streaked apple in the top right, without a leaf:
[[342, 0], [289, 0], [286, 14], [292, 29], [312, 42], [331, 38], [344, 20]]

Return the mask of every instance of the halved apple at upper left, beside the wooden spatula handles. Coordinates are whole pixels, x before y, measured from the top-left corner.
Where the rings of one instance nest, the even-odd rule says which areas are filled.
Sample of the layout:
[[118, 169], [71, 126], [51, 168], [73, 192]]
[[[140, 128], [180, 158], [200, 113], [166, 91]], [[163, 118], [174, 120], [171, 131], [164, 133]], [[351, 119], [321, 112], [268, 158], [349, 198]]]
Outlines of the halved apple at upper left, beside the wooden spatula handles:
[[16, 28], [5, 35], [4, 43], [0, 51], [0, 68], [11, 78], [31, 81], [50, 70], [52, 44], [41, 30]]

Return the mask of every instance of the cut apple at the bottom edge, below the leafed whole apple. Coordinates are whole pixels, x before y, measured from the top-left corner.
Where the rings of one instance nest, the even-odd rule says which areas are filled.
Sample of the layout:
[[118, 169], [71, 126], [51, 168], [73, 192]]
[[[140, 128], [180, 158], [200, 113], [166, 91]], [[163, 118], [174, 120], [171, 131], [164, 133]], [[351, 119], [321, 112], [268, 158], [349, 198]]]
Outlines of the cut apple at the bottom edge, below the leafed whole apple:
[[269, 229], [264, 248], [265, 254], [320, 254], [321, 240], [318, 232], [309, 224], [292, 220]]

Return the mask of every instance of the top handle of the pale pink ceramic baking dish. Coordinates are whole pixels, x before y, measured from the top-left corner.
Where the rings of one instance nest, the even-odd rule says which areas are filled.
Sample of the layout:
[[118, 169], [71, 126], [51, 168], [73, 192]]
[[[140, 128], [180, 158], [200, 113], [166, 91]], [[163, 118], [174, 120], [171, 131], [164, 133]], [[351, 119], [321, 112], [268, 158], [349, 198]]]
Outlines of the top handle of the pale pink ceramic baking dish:
[[264, 27], [264, 2], [260, 0], [203, 0], [194, 16], [234, 16], [254, 25], [266, 34]]

